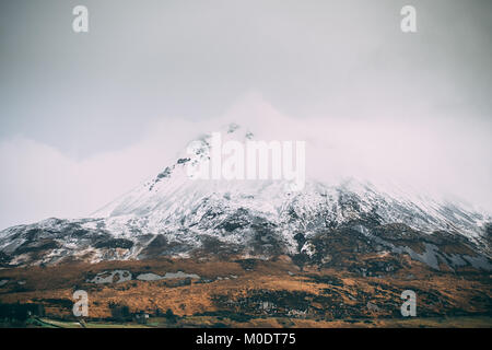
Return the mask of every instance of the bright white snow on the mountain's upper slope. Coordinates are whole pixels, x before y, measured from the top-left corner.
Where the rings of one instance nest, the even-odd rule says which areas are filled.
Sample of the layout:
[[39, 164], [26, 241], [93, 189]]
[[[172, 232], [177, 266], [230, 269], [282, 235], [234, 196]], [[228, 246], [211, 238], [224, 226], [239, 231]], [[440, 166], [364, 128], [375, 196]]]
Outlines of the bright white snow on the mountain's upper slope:
[[[239, 140], [251, 135], [248, 131], [241, 133], [243, 130], [237, 127], [230, 130], [234, 131], [229, 133], [238, 133], [236, 139]], [[208, 138], [199, 141], [202, 148], [195, 154], [184, 154], [153, 180], [103, 208], [94, 217], [145, 218], [148, 229], [159, 231], [176, 223], [195, 225], [213, 208], [222, 213], [245, 208], [277, 223], [282, 221], [282, 214], [289, 208], [294, 208], [307, 221], [315, 220], [323, 210], [327, 215], [325, 221], [335, 225], [375, 214], [382, 223], [401, 222], [427, 233], [448, 230], [472, 237], [480, 235], [485, 221], [484, 214], [453, 203], [395, 188], [382, 190], [355, 179], [336, 185], [311, 182], [302, 192], [286, 190], [282, 180], [194, 180], [186, 173], [188, 162], [203, 162], [210, 154]]]

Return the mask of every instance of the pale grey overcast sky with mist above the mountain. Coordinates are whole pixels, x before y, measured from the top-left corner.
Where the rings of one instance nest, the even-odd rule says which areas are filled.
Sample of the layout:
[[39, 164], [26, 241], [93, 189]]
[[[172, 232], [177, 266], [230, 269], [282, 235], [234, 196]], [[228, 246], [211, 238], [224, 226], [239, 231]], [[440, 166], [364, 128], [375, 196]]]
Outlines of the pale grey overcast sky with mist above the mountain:
[[[89, 33], [72, 31], [78, 4]], [[417, 33], [400, 31], [405, 4]], [[492, 211], [491, 13], [489, 0], [2, 0], [0, 230], [89, 214], [233, 119], [326, 145], [319, 176], [384, 173]]]

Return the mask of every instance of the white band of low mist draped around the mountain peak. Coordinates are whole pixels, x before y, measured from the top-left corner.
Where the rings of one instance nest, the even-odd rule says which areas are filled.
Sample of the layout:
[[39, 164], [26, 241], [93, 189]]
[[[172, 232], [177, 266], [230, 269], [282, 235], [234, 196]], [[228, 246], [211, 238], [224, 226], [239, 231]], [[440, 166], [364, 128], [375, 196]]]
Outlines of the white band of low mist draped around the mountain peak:
[[0, 143], [0, 225], [89, 215], [174, 163], [189, 141], [230, 122], [251, 131], [256, 140], [305, 141], [307, 180], [390, 182], [492, 212], [490, 125], [430, 120], [425, 116], [408, 122], [336, 116], [298, 119], [250, 93], [218, 118], [165, 118], [150, 124], [145, 136], [130, 147], [85, 160], [27, 138], [12, 138]]

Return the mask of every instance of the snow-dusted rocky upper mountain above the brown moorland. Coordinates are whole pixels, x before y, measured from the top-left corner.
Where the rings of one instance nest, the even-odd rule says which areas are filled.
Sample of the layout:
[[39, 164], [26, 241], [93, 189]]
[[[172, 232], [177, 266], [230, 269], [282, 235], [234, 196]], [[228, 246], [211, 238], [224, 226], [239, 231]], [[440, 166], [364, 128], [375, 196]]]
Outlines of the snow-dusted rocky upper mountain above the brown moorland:
[[[222, 133], [224, 140], [254, 138], [237, 125]], [[355, 179], [308, 180], [301, 191], [285, 180], [191, 179], [187, 166], [210, 159], [210, 138], [197, 139], [191, 153], [91, 218], [0, 232], [0, 262], [286, 254], [335, 264], [330, 242], [344, 235], [351, 240], [342, 248], [354, 252], [407, 254], [436, 269], [492, 269], [492, 220], [484, 213]]]

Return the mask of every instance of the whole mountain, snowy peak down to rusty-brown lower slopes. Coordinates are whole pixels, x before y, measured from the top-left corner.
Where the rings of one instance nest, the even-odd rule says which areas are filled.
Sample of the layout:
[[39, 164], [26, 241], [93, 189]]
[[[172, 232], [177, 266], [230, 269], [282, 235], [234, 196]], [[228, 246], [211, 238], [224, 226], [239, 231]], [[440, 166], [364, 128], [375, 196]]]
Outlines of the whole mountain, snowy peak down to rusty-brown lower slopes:
[[[85, 291], [96, 326], [491, 326], [489, 215], [354, 178], [190, 178], [213, 135], [89, 218], [0, 232], [4, 325], [73, 326]], [[255, 140], [237, 125], [221, 136]], [[417, 319], [401, 313], [408, 291]]]

